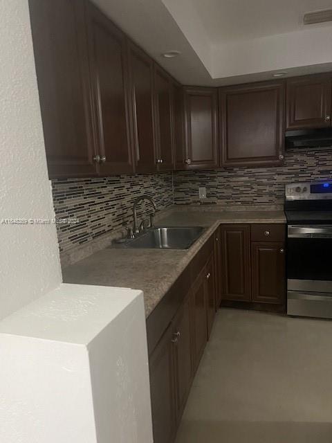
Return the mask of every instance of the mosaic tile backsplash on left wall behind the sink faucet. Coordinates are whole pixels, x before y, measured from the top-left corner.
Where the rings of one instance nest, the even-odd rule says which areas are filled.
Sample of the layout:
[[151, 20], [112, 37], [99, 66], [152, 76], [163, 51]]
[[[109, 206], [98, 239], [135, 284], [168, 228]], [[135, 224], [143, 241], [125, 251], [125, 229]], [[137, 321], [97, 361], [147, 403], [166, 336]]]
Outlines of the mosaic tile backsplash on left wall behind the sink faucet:
[[[120, 175], [90, 179], [53, 180], [53, 203], [58, 218], [77, 218], [77, 224], [57, 224], [60, 253], [104, 233], [132, 225], [133, 200], [143, 194], [154, 198], [157, 211], [174, 204], [172, 172]], [[138, 216], [153, 208], [147, 201]]]

